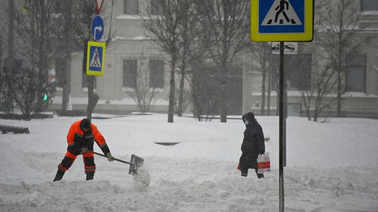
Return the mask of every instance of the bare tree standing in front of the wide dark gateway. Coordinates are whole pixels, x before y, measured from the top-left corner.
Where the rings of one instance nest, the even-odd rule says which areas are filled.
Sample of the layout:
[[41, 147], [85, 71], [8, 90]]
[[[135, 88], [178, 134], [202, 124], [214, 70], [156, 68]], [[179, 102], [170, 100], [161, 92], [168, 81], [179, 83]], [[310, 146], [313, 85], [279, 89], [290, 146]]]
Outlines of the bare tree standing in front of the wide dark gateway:
[[246, 0], [198, 0], [197, 11], [202, 32], [211, 39], [208, 46], [211, 57], [220, 68], [221, 122], [227, 121], [226, 83], [229, 64], [245, 46], [249, 31], [249, 1]]

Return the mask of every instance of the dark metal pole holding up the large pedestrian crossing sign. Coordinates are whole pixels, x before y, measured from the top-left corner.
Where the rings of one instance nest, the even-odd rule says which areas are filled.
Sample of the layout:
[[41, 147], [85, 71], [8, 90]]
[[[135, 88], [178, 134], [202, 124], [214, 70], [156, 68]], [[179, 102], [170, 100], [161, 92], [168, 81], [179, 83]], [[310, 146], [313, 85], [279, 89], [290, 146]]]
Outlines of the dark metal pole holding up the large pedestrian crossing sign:
[[284, 212], [284, 41], [280, 42], [280, 139], [279, 139], [279, 186], [280, 212]]

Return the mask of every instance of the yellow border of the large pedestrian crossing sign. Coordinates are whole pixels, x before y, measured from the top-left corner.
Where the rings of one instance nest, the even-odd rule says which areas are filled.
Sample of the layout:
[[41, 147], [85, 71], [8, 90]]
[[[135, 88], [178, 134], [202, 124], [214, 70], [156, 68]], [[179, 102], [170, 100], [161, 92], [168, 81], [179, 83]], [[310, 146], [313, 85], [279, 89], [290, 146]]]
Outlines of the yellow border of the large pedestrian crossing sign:
[[305, 0], [304, 33], [258, 33], [258, 0], [251, 0], [252, 41], [308, 41], [314, 39], [314, 0]]

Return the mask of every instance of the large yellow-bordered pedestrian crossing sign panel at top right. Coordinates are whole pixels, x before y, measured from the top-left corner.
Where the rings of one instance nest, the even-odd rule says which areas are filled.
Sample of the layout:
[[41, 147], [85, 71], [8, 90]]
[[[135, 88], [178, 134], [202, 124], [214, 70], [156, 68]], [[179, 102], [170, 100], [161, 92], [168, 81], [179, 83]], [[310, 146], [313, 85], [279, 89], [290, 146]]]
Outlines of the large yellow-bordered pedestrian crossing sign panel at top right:
[[251, 0], [252, 41], [312, 41], [314, 0]]

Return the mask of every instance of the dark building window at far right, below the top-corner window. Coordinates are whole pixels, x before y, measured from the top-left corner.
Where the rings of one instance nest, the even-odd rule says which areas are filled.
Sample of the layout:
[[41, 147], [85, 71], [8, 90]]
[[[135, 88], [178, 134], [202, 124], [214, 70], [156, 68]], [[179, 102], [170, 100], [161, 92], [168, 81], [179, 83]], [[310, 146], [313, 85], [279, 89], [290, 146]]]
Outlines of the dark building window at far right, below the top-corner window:
[[366, 55], [353, 55], [347, 61], [346, 91], [365, 92]]

